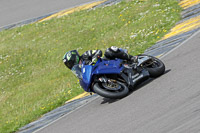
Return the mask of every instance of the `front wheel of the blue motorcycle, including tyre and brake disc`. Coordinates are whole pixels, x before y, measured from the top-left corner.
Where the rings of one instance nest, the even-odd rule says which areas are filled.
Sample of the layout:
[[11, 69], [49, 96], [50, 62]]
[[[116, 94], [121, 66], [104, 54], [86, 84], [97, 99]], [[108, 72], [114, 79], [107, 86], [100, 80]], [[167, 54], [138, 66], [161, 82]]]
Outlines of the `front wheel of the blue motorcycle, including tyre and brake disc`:
[[128, 95], [128, 87], [119, 81], [112, 83], [95, 83], [93, 86], [94, 92], [99, 94], [102, 97], [119, 99]]

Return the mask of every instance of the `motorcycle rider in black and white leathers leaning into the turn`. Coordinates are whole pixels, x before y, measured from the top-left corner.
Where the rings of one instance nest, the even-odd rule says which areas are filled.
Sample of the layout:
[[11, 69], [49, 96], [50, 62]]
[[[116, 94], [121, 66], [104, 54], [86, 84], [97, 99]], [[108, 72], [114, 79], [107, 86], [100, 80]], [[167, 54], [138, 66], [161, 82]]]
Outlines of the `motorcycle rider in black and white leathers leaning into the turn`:
[[[101, 56], [101, 50], [88, 50], [81, 56], [78, 54], [77, 50], [71, 50], [63, 56], [63, 62], [78, 78], [81, 78], [81, 64], [83, 62], [87, 65], [95, 63]], [[116, 46], [107, 48], [104, 56], [106, 59], [119, 58], [133, 62], [136, 62], [137, 60], [135, 56], [129, 55], [126, 49], [118, 48]]]

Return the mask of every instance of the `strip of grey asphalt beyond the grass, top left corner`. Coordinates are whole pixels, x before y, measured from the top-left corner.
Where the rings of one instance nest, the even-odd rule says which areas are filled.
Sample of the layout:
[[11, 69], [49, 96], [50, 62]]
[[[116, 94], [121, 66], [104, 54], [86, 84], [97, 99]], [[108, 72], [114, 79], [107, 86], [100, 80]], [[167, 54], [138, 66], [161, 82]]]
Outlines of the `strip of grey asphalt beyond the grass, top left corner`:
[[0, 28], [95, 0], [0, 0]]

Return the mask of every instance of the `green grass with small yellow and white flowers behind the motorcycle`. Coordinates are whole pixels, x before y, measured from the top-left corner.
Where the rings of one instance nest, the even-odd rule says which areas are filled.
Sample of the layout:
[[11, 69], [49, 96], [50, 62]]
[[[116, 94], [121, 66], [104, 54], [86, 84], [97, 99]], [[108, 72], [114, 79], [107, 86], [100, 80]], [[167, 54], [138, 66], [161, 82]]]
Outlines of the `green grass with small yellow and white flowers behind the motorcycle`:
[[62, 62], [66, 51], [115, 45], [143, 53], [180, 11], [176, 0], [126, 0], [0, 32], [0, 132], [14, 132], [83, 92]]

